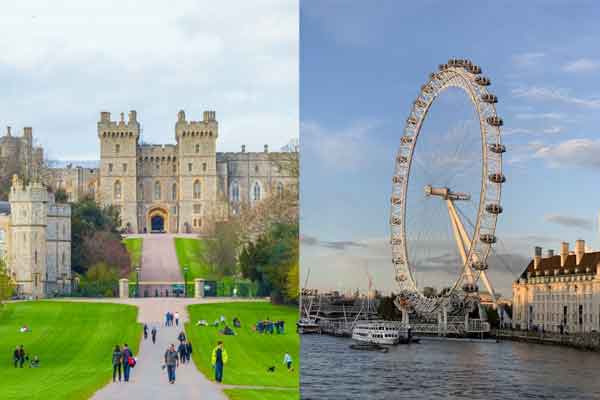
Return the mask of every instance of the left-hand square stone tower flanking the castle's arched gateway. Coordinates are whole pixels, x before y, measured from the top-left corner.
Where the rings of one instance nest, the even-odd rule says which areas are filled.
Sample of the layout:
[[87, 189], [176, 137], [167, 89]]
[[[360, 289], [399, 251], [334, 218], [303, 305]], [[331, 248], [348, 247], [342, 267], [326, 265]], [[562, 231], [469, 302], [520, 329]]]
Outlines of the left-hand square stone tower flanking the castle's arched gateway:
[[120, 211], [122, 227], [137, 232], [137, 149], [140, 124], [136, 111], [129, 118], [111, 121], [110, 113], [100, 113], [99, 201], [114, 205]]

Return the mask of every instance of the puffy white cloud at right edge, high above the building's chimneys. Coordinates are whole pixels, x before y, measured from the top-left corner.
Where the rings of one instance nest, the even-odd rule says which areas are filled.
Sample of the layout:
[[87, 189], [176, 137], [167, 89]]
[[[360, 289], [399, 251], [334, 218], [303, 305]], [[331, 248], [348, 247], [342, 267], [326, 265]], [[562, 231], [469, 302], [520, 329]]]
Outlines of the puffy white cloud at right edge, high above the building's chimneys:
[[539, 147], [534, 158], [546, 161], [551, 167], [575, 166], [600, 168], [600, 139], [571, 139], [555, 145]]

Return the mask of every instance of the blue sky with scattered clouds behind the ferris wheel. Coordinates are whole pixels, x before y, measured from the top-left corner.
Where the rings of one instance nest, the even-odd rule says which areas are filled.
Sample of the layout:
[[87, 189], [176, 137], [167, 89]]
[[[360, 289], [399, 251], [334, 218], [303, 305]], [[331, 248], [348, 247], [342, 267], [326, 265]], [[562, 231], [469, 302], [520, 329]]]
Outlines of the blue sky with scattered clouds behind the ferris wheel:
[[[592, 1], [302, 1], [301, 282], [364, 290], [371, 276], [382, 291], [396, 288], [387, 244], [394, 157], [421, 85], [451, 57], [481, 66], [504, 120], [504, 213], [489, 270], [496, 291], [511, 296], [534, 246], [557, 251], [565, 240], [572, 249], [584, 239], [599, 249], [599, 19]], [[458, 143], [470, 166], [458, 181], [472, 193], [474, 115], [460, 92], [440, 96], [421, 132], [429, 142], [417, 145], [430, 158], [422, 177], [437, 178], [434, 161]], [[448, 225], [439, 208], [407, 212], [415, 229]], [[422, 282], [456, 279], [449, 254], [429, 256]]]

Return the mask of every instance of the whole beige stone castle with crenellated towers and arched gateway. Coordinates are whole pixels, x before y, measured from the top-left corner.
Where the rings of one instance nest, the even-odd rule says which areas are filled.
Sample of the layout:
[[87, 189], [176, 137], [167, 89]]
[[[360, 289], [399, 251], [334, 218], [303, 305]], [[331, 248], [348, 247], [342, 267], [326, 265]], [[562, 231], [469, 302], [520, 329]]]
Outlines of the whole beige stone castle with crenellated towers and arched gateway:
[[[70, 206], [55, 204], [64, 190], [69, 202], [84, 197], [120, 211], [127, 233], [210, 235], [215, 223], [272, 196], [297, 194], [297, 145], [281, 152], [217, 152], [219, 124], [214, 111], [201, 120], [177, 113], [174, 144], [140, 139], [137, 112], [118, 120], [101, 112], [97, 123], [97, 167], [43, 166], [43, 150], [33, 145], [32, 128], [0, 138], [0, 161], [18, 166], [9, 201], [0, 202], [0, 252], [21, 293], [43, 297], [71, 285]], [[21, 254], [23, 253], [23, 254]]]

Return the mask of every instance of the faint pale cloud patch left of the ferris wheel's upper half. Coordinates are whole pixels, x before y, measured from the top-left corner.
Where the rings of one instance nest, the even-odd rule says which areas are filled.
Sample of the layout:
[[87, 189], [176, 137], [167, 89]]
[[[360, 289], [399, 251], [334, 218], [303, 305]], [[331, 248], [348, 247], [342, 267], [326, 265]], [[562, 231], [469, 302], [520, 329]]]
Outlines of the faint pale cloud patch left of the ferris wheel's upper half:
[[313, 121], [300, 123], [302, 149], [314, 153], [325, 165], [336, 168], [358, 168], [368, 157], [370, 136], [380, 126], [379, 121], [354, 121], [340, 129], [325, 128]]

